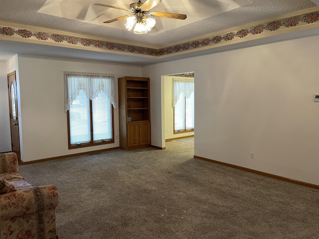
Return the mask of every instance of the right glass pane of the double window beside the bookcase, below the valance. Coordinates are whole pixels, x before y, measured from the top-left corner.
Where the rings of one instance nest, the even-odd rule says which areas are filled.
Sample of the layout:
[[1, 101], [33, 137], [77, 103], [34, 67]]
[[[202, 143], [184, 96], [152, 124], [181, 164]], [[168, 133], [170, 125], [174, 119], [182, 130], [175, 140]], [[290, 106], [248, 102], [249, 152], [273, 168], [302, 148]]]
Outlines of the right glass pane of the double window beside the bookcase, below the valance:
[[111, 102], [104, 92], [92, 100], [93, 140], [112, 138]]

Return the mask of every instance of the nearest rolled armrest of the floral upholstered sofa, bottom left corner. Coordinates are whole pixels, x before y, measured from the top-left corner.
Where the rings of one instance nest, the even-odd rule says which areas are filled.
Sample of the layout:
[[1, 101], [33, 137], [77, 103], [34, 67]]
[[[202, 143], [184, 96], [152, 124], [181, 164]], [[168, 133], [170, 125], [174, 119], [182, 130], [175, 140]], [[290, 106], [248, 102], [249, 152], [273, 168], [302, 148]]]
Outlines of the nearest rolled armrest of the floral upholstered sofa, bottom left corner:
[[54, 185], [17, 190], [0, 195], [0, 238], [55, 239]]

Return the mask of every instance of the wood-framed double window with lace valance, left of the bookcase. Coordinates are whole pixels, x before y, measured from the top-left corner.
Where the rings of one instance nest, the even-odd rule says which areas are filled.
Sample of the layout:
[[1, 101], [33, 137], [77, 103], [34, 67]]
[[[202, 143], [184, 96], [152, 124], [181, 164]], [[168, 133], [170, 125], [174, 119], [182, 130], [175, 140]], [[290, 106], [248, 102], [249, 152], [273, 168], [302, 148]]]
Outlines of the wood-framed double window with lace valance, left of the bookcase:
[[113, 75], [64, 73], [69, 149], [114, 142]]

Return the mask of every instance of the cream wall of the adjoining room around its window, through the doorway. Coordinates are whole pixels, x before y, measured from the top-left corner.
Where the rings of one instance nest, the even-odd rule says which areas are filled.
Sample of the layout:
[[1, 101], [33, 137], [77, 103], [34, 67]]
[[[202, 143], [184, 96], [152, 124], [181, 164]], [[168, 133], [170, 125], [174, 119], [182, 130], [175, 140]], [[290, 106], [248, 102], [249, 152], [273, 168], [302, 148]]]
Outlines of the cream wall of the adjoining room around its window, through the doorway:
[[[183, 72], [180, 72], [183, 73]], [[164, 79], [164, 114], [165, 114], [165, 139], [179, 138], [194, 135], [194, 132], [174, 134], [174, 111], [172, 107], [172, 77], [165, 76]]]

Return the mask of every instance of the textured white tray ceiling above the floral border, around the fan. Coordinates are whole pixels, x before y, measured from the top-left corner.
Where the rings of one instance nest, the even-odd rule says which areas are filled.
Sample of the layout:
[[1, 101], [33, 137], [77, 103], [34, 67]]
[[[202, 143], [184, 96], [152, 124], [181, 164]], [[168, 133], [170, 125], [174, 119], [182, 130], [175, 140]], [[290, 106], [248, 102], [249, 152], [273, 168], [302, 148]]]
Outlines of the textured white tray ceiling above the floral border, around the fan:
[[[105, 24], [103, 21], [128, 14], [115, 8], [96, 6], [103, 3], [129, 8], [132, 0], [1, 0], [0, 21], [44, 27], [105, 40], [160, 48], [187, 41], [212, 32], [245, 23], [279, 16], [317, 6], [319, 0], [162, 0], [152, 11], [187, 14], [185, 20], [154, 17], [156, 28], [137, 35], [124, 28], [125, 19]], [[0, 60], [15, 53], [28, 53], [34, 44], [0, 40]], [[23, 49], [24, 48], [24, 49]], [[60, 48], [42, 45], [43, 55], [58, 56]], [[69, 50], [72, 51], [72, 50]], [[70, 56], [76, 57], [72, 51]], [[33, 51], [34, 52], [34, 51]], [[51, 52], [51, 53], [50, 53]], [[54, 54], [53, 54], [54, 53]], [[61, 53], [62, 54], [62, 53]], [[78, 54], [86, 54], [78, 51]], [[88, 58], [100, 60], [101, 53], [87, 53]], [[96, 54], [96, 58], [94, 57]], [[114, 59], [110, 54], [105, 59]], [[118, 62], [123, 55], [118, 56]], [[79, 58], [85, 58], [79, 56]], [[125, 61], [123, 61], [125, 62]]]

